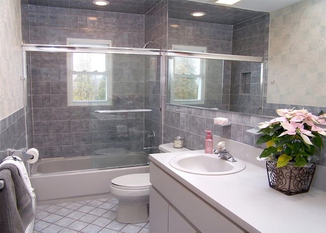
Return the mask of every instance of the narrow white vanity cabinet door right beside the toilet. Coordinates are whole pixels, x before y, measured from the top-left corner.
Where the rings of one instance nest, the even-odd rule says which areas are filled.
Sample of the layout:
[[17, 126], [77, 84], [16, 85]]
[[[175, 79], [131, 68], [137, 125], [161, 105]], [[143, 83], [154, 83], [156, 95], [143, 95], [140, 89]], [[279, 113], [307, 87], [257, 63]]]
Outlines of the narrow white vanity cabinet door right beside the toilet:
[[149, 230], [151, 233], [168, 233], [169, 204], [152, 187], [149, 191]]

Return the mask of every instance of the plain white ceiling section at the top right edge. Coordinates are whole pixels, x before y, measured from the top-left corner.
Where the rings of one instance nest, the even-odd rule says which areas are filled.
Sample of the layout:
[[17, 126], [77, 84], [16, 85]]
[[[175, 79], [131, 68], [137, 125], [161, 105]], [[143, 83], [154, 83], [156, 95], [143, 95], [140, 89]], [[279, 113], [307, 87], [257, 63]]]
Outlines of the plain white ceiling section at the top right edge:
[[[302, 2], [303, 0], [241, 0], [233, 5], [216, 4], [213, 0], [189, 0], [198, 3], [207, 3], [214, 5], [223, 5], [253, 11], [272, 12], [292, 4]], [[215, 0], [216, 1], [216, 0]]]

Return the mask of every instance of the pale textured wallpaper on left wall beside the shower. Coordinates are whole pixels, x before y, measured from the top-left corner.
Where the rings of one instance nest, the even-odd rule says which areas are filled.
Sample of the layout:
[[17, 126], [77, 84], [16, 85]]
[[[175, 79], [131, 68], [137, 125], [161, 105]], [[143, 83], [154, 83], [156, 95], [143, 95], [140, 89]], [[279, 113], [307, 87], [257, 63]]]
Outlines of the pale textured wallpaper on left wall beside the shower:
[[20, 1], [0, 0], [0, 120], [23, 107]]

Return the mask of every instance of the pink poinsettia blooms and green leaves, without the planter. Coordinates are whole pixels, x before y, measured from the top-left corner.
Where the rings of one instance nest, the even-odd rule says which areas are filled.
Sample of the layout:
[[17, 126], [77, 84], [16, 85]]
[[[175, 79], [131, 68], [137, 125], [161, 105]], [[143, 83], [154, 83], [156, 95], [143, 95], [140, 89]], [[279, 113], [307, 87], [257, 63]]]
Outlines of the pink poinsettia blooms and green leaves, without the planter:
[[321, 112], [316, 116], [306, 109], [294, 108], [276, 111], [278, 118], [259, 124], [259, 132], [264, 135], [258, 138], [257, 144], [267, 145], [259, 158], [277, 161], [278, 167], [289, 162], [305, 166], [323, 146], [326, 129], [318, 125], [326, 125], [326, 114]]

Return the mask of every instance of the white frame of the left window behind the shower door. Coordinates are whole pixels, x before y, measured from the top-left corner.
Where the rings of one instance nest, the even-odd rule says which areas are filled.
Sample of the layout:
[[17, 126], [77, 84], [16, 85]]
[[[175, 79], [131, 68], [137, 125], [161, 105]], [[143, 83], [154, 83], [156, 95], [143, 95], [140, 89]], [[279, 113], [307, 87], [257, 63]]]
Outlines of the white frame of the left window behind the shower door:
[[[68, 45], [76, 45], [76, 46], [112, 46], [112, 40], [99, 40], [99, 39], [80, 39], [80, 38], [67, 38]], [[69, 52], [67, 54], [67, 103], [68, 106], [90, 106], [90, 105], [112, 105], [112, 54], [105, 54], [105, 72], [89, 72], [82, 71], [76, 72], [73, 71], [73, 52]], [[106, 100], [73, 100], [73, 81], [72, 77], [74, 74], [105, 74], [106, 79]]]

